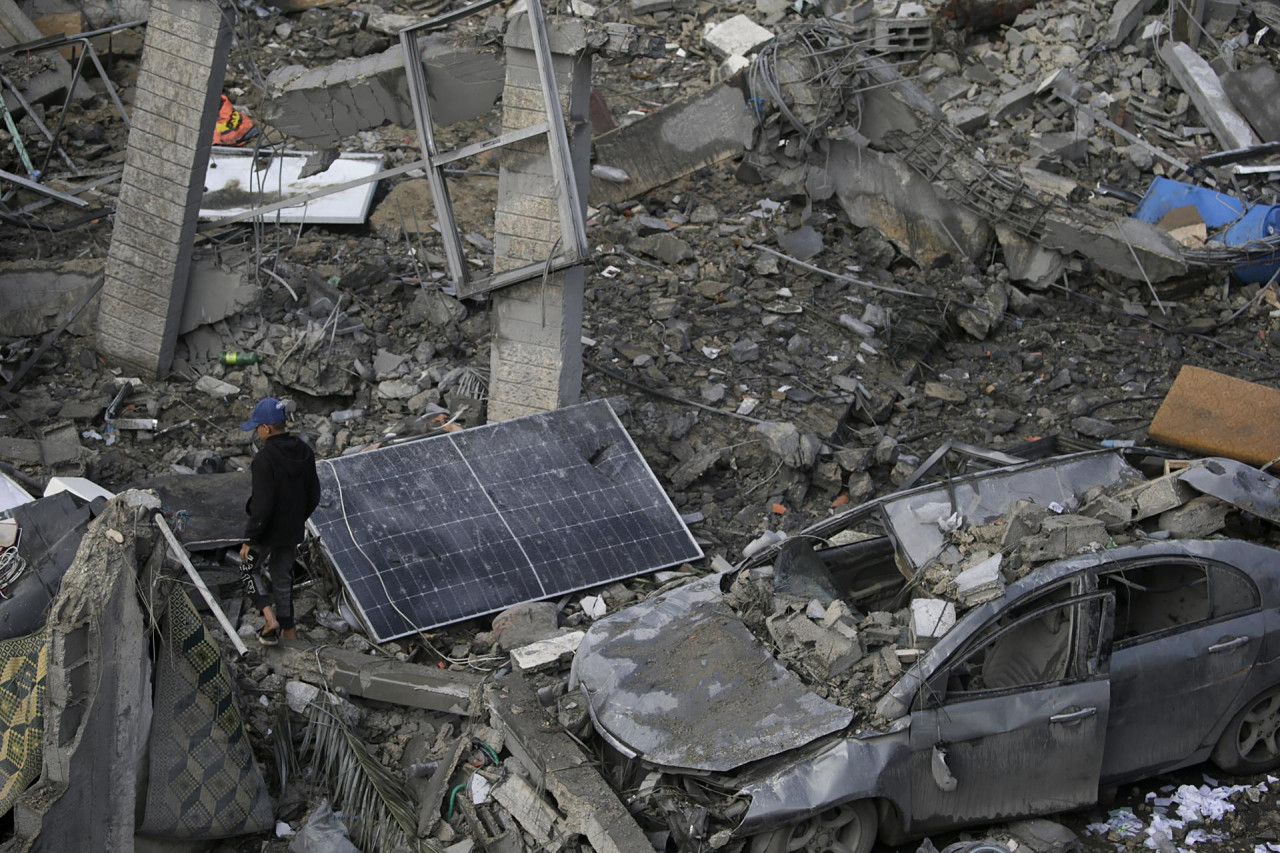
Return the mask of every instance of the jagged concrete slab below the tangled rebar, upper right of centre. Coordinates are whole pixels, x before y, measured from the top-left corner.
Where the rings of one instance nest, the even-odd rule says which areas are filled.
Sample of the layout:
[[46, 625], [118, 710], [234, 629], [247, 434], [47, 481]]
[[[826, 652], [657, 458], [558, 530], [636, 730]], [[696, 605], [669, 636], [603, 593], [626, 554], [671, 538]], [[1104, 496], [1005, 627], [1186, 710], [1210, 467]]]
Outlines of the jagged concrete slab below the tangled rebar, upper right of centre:
[[879, 231], [916, 264], [929, 266], [957, 251], [968, 260], [986, 254], [987, 223], [892, 154], [833, 141], [827, 169], [850, 222]]

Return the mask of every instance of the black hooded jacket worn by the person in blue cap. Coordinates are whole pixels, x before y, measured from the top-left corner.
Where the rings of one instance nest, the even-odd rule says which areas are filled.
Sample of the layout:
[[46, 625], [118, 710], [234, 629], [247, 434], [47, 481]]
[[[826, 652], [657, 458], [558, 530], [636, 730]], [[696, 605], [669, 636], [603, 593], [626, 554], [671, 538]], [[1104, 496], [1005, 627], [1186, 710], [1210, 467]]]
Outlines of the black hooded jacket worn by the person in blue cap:
[[315, 453], [297, 435], [271, 435], [253, 457], [251, 471], [253, 492], [244, 505], [244, 539], [265, 547], [302, 542], [303, 525], [320, 505]]

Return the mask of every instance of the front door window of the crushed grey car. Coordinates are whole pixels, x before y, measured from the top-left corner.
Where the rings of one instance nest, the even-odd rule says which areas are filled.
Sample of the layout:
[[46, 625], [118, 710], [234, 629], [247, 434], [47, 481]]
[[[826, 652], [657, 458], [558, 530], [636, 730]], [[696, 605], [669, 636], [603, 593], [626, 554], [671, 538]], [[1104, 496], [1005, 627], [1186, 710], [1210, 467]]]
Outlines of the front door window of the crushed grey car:
[[947, 666], [947, 701], [1087, 678], [1097, 671], [1102, 596], [1039, 601], [986, 629]]

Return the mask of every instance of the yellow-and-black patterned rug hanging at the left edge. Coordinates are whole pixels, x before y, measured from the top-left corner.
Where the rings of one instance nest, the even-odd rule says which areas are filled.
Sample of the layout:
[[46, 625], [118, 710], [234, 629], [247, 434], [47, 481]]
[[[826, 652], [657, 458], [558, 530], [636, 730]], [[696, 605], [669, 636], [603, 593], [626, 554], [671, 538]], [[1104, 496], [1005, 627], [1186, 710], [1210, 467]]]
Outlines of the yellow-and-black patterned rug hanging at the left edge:
[[0, 642], [0, 815], [40, 775], [47, 676], [45, 631]]

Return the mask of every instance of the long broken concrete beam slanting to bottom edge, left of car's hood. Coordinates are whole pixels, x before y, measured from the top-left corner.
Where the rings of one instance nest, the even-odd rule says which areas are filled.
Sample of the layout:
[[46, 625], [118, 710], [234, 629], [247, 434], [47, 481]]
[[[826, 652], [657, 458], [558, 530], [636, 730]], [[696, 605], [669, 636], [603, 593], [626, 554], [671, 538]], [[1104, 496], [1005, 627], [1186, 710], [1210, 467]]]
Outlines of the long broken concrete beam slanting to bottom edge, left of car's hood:
[[550, 720], [522, 676], [508, 675], [485, 693], [507, 749], [564, 813], [570, 830], [596, 853], [653, 853], [653, 845], [581, 748]]

